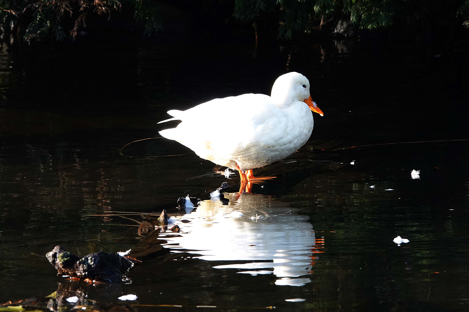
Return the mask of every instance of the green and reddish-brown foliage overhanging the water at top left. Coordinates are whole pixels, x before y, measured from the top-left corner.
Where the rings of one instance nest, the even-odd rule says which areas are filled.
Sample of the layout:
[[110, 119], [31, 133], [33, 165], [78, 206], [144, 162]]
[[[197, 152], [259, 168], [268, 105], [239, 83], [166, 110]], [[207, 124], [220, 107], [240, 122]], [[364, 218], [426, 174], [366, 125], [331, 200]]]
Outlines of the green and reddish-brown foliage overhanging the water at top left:
[[[90, 14], [110, 18], [111, 12], [121, 11], [122, 6], [134, 8], [134, 17], [144, 24], [144, 34], [151, 35], [161, 28], [154, 0], [0, 0], [0, 29], [3, 37], [12, 34], [19, 41], [45, 37], [73, 40], [77, 31], [86, 26]], [[73, 27], [66, 31], [63, 25], [70, 21]]]

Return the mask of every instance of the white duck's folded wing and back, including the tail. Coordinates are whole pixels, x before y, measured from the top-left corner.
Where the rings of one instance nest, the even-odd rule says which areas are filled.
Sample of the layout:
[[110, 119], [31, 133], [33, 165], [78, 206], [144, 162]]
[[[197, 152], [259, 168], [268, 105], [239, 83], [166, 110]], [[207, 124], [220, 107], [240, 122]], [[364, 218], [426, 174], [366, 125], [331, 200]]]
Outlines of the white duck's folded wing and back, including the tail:
[[[279, 144], [287, 131], [285, 113], [265, 94], [214, 99], [184, 111], [170, 110], [176, 128], [159, 131], [217, 164], [249, 157]], [[163, 122], [165, 122], [163, 121]]]

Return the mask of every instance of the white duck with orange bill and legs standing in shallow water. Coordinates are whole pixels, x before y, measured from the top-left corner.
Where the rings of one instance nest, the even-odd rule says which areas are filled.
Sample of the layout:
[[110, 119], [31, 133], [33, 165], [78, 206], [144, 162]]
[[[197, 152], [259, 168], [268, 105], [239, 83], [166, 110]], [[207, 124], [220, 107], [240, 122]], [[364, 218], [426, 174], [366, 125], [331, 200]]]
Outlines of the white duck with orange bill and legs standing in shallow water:
[[[306, 143], [314, 123], [310, 109], [324, 116], [311, 100], [308, 79], [292, 72], [275, 80], [271, 96], [242, 94], [170, 110], [174, 118], [159, 123], [182, 123], [159, 134], [203, 159], [238, 170], [242, 182], [265, 180], [273, 177], [254, 177], [252, 169], [284, 159]], [[227, 117], [211, 118], [217, 113]]]

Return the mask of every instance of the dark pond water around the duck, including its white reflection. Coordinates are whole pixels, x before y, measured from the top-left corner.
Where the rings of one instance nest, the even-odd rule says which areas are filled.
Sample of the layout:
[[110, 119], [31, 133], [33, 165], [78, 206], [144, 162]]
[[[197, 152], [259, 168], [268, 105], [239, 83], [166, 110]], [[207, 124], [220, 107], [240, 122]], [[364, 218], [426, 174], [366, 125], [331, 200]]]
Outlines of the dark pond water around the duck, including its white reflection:
[[[256, 171], [277, 178], [254, 185], [254, 195], [237, 194], [237, 176], [213, 174], [195, 154], [151, 157], [190, 152], [166, 139], [124, 150], [136, 157], [119, 154], [174, 125], [156, 124], [169, 109], [270, 94], [292, 70], [309, 78], [325, 116], [314, 115], [299, 152]], [[332, 151], [468, 139], [467, 77], [458, 63], [409, 62], [378, 42], [257, 54], [250, 47], [3, 53], [0, 302], [59, 287], [87, 294], [89, 305], [129, 304], [117, 297], [136, 294], [142, 305], [223, 311], [467, 311], [469, 141]], [[236, 127], [240, 113], [214, 111], [200, 122], [223, 118]], [[411, 179], [413, 169], [420, 179]], [[210, 200], [223, 181], [229, 205]], [[146, 239], [135, 222], [90, 215], [182, 216], [175, 203], [187, 194], [204, 202], [184, 217], [191, 222], [173, 220], [181, 236], [160, 234], [167, 252], [133, 268], [131, 284], [67, 282], [43, 256], [55, 245], [80, 255], [135, 248]], [[410, 242], [398, 246], [398, 235]], [[285, 301], [292, 298], [305, 301]]]

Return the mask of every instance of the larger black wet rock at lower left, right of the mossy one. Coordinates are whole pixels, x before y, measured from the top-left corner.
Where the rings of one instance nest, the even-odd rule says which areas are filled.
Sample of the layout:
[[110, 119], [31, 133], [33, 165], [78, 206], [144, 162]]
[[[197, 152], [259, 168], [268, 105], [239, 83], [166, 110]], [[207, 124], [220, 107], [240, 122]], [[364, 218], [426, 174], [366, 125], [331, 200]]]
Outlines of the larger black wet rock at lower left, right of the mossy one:
[[107, 283], [125, 282], [124, 273], [134, 266], [136, 261], [116, 253], [99, 251], [88, 254], [75, 264], [76, 276]]

